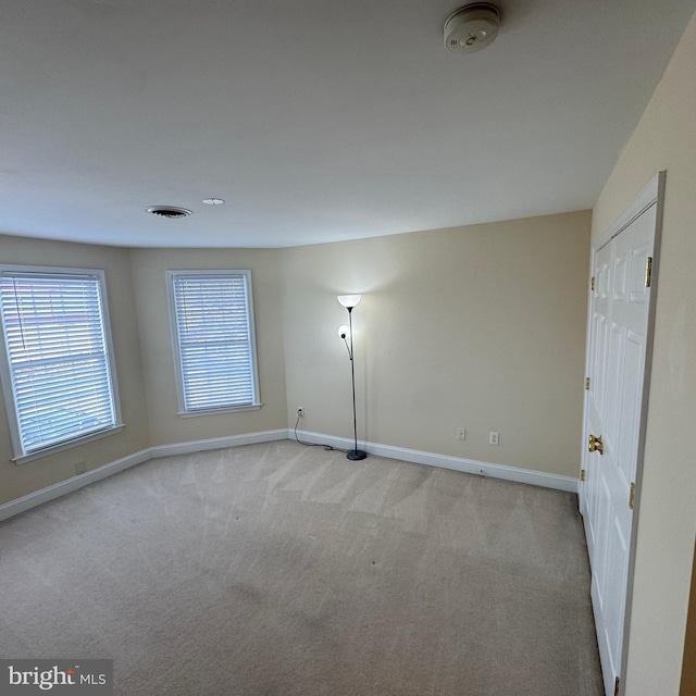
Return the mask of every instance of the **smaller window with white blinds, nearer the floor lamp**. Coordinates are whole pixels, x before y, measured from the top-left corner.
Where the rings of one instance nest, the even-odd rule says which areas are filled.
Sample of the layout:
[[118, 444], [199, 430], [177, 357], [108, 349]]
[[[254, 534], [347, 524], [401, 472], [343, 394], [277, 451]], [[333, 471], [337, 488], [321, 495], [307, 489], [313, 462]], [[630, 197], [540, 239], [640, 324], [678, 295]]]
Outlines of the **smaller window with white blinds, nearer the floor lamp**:
[[259, 408], [250, 271], [169, 271], [181, 415]]

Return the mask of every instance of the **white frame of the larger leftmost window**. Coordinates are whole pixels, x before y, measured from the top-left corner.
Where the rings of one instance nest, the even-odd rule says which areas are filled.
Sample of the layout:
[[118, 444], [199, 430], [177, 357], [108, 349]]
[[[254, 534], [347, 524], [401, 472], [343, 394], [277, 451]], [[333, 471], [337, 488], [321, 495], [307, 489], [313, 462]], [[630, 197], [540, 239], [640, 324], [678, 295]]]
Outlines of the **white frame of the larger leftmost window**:
[[12, 378], [12, 369], [10, 366], [10, 351], [8, 346], [8, 334], [2, 315], [2, 307], [0, 302], [0, 384], [4, 397], [5, 410], [8, 413], [8, 422], [10, 425], [10, 439], [12, 442], [12, 451], [14, 457], [12, 461], [16, 464], [24, 464], [35, 459], [47, 457], [55, 452], [71, 449], [85, 443], [108, 437], [114, 433], [123, 431], [124, 424], [121, 417], [121, 399], [119, 395], [119, 380], [116, 376], [116, 364], [113, 350], [113, 338], [111, 333], [111, 316], [109, 313], [109, 301], [107, 297], [107, 278], [102, 269], [74, 269], [62, 266], [38, 266], [38, 265], [21, 265], [21, 264], [0, 264], [0, 275], [26, 275], [41, 276], [60, 279], [64, 277], [89, 277], [96, 278], [98, 284], [99, 306], [101, 311], [101, 322], [104, 338], [105, 363], [109, 373], [109, 382], [111, 386], [111, 401], [113, 407], [113, 425], [100, 427], [91, 433], [85, 433], [75, 437], [69, 437], [59, 443], [47, 445], [34, 449], [29, 452], [24, 450], [22, 437], [20, 434], [20, 415], [17, 412], [16, 395], [14, 391], [14, 382]]

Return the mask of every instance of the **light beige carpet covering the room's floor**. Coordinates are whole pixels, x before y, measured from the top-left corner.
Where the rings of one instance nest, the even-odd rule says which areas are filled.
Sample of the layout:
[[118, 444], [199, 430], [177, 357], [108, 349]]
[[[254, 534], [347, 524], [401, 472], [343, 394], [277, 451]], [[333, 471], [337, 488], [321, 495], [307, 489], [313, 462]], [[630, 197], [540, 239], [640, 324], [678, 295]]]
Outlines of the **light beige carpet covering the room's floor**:
[[291, 442], [0, 524], [0, 657], [115, 694], [598, 696], [576, 497]]

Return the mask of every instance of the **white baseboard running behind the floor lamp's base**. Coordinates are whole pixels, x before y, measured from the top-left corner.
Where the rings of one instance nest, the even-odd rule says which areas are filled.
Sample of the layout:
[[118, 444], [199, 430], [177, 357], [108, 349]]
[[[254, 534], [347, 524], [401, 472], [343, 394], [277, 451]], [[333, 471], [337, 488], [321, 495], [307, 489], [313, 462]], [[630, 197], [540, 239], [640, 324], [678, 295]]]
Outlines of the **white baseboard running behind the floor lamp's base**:
[[[353, 440], [345, 437], [334, 437], [333, 435], [323, 435], [322, 433], [311, 433], [308, 431], [298, 431], [297, 434], [301, 440], [307, 443], [327, 445], [339, 449], [352, 449], [353, 447]], [[291, 428], [288, 430], [288, 439], [295, 439], [295, 431]], [[417, 464], [427, 464], [430, 467], [439, 467], [440, 469], [451, 469], [469, 474], [489, 476], [490, 478], [504, 478], [506, 481], [542, 486], [544, 488], [577, 493], [579, 480], [572, 476], [548, 474], [543, 471], [507, 467], [505, 464], [492, 464], [475, 459], [448, 457], [447, 455], [436, 455], [418, 449], [394, 447], [391, 445], [378, 445], [376, 443], [358, 443], [358, 445], [369, 455], [374, 455], [375, 457], [400, 459]]]

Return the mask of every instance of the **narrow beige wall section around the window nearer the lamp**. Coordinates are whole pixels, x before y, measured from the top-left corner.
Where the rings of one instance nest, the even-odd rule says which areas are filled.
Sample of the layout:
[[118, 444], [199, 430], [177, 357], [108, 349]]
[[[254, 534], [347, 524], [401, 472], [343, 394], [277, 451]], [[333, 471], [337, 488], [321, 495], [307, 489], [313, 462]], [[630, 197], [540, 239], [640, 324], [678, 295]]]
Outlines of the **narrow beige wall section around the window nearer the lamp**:
[[[287, 427], [281, 318], [281, 251], [273, 249], [133, 249], [145, 388], [152, 445]], [[165, 273], [184, 269], [250, 269], [260, 393], [256, 411], [177, 415]]]

